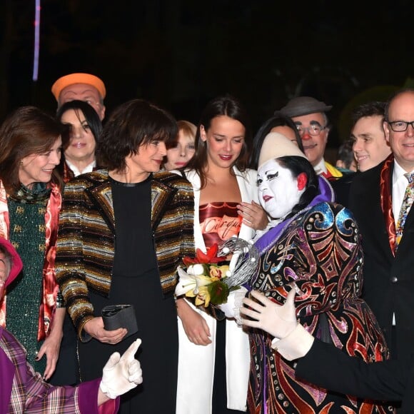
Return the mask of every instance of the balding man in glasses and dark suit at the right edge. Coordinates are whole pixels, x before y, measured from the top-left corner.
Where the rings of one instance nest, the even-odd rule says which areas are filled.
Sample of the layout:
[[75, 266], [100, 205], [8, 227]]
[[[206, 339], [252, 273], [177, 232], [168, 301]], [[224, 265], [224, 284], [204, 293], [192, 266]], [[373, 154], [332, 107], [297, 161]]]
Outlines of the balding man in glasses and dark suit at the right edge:
[[398, 91], [388, 101], [383, 126], [393, 153], [355, 176], [349, 208], [363, 236], [363, 298], [378, 319], [391, 358], [406, 358], [414, 343], [414, 209], [399, 243], [398, 218], [408, 186], [404, 174], [414, 171], [414, 89]]

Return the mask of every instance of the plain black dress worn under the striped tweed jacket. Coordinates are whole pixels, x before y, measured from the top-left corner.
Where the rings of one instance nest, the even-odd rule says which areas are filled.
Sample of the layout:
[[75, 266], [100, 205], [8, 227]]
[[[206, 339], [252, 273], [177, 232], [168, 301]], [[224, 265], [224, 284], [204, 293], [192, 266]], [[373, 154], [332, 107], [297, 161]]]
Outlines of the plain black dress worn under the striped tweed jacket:
[[109, 304], [130, 303], [138, 332], [109, 345], [79, 343], [81, 380], [102, 375], [109, 356], [123, 353], [136, 338], [143, 383], [121, 397], [119, 413], [175, 413], [178, 365], [177, 313], [173, 298], [163, 298], [151, 229], [151, 176], [141, 183], [111, 182], [116, 246], [109, 298], [89, 293], [95, 315]]

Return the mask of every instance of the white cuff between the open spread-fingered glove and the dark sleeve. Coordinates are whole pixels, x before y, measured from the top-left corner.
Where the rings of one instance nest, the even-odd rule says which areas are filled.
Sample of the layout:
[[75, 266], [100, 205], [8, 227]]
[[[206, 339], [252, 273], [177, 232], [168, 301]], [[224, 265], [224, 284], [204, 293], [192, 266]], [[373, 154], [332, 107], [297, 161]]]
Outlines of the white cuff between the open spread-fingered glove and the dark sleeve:
[[313, 338], [303, 326], [298, 323], [296, 328], [283, 339], [272, 340], [272, 348], [287, 360], [305, 356], [313, 344]]

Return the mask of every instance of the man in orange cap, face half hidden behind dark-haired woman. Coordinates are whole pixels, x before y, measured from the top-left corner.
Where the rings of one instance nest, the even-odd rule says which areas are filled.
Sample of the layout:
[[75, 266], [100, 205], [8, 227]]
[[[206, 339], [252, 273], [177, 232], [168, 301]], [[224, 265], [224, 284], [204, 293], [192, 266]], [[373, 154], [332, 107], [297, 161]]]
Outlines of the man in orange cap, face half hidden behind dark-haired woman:
[[79, 99], [93, 106], [101, 121], [105, 118], [106, 88], [98, 76], [82, 73], [62, 76], [52, 85], [51, 92], [58, 103], [58, 108], [65, 102]]

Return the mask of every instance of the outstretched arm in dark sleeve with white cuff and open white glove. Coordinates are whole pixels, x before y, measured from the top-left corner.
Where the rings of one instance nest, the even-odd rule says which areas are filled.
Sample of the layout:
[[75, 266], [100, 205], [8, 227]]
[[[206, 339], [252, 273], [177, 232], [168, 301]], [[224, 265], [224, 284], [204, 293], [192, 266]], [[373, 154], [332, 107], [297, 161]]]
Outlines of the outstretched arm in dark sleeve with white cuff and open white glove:
[[[313, 338], [296, 320], [295, 290], [279, 306], [263, 293], [243, 299], [243, 325], [275, 337], [272, 347], [287, 360], [296, 360], [295, 376], [320, 387], [370, 400], [401, 402], [399, 413], [413, 413], [414, 358], [365, 363]], [[391, 407], [388, 410], [392, 410]]]

